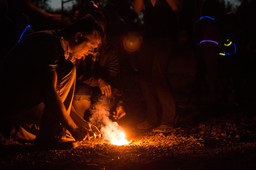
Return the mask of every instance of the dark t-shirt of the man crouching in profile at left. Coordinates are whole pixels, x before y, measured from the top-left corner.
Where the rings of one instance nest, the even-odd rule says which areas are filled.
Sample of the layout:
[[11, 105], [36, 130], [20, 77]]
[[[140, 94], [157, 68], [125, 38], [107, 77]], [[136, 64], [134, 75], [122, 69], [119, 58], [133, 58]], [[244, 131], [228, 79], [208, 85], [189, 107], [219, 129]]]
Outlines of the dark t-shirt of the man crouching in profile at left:
[[65, 60], [59, 30], [32, 33], [17, 43], [0, 64], [0, 89], [37, 82], [47, 70]]

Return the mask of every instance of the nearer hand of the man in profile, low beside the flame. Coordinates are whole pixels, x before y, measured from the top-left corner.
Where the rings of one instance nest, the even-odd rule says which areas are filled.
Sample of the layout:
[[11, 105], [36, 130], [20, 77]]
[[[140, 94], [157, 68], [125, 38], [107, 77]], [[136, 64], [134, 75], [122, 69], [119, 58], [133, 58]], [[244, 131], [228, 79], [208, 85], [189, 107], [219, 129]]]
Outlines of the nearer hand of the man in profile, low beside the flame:
[[90, 140], [92, 137], [95, 139], [96, 135], [92, 131], [84, 128], [83, 126], [77, 127], [70, 131], [71, 135], [75, 138], [76, 142]]

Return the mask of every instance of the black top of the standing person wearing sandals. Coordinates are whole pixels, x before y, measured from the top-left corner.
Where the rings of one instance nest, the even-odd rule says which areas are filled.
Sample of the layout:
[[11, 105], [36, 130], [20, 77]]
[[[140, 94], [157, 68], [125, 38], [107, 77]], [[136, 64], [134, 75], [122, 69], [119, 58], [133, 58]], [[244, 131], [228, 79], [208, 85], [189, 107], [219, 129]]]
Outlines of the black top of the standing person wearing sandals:
[[155, 6], [144, 0], [146, 9], [145, 38], [164, 38], [175, 41], [178, 35], [178, 19], [166, 0], [157, 0]]

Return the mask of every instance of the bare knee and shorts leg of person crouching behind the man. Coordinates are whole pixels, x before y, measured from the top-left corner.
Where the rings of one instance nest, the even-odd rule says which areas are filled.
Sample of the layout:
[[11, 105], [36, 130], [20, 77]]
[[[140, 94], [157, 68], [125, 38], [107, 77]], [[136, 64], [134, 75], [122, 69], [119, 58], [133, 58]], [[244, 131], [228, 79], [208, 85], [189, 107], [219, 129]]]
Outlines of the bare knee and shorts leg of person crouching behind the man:
[[76, 87], [72, 105], [77, 114], [84, 119], [84, 112], [91, 105], [92, 87], [79, 80], [76, 80]]

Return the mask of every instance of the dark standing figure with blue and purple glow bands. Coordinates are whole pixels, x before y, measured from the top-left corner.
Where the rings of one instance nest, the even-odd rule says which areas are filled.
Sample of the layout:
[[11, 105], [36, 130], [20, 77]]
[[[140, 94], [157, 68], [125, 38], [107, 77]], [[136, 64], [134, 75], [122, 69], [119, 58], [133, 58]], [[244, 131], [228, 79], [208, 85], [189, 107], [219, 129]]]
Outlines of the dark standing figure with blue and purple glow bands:
[[209, 92], [209, 105], [215, 105], [216, 82], [218, 80], [218, 63], [220, 48], [223, 46], [221, 40], [221, 27], [218, 23], [219, 4], [216, 0], [206, 0], [201, 10], [201, 18], [196, 21], [194, 27], [196, 52], [196, 102], [200, 105], [203, 84]]

